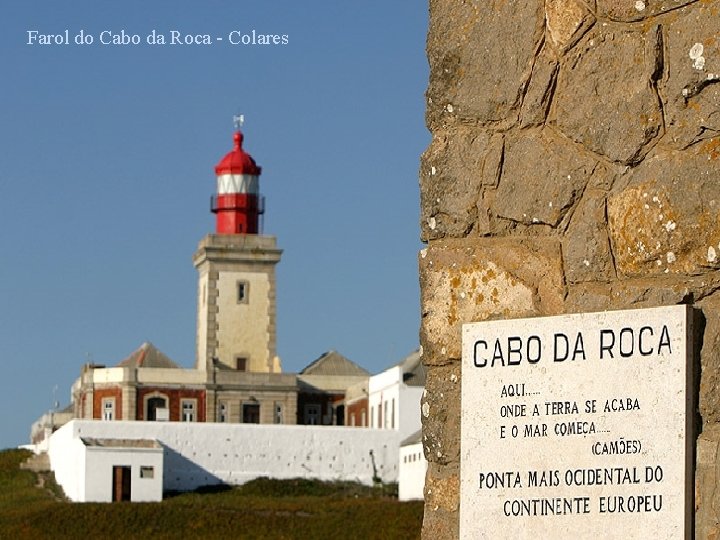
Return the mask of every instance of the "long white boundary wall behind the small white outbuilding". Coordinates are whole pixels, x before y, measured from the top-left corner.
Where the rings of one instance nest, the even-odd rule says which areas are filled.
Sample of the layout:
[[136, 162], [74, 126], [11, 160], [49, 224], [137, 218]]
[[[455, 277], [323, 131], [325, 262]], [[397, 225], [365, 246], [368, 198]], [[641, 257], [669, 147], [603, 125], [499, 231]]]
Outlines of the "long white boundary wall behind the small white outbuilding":
[[370, 485], [373, 459], [384, 482], [397, 482], [401, 440], [395, 430], [335, 426], [73, 420], [52, 435], [49, 451], [57, 481], [73, 500], [83, 500], [74, 494], [84, 497], [78, 493], [86, 474], [80, 437], [157, 440], [166, 491], [240, 485], [262, 476]]

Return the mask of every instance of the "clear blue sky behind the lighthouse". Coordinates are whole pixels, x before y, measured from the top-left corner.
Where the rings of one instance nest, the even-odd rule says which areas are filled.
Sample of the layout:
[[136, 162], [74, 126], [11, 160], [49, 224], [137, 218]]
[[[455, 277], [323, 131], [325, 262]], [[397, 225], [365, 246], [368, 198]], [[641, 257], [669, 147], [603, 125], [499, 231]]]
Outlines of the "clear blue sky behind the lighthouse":
[[[28, 45], [28, 30], [69, 45]], [[100, 33], [140, 45], [103, 45]], [[192, 367], [196, 272], [214, 165], [245, 114], [263, 167], [278, 352], [298, 371], [335, 349], [377, 372], [418, 343], [417, 170], [424, 3], [12, 2], [0, 20], [0, 448], [88, 360], [151, 341]], [[91, 45], [75, 45], [81, 30]], [[151, 46], [155, 30], [212, 45]], [[228, 35], [287, 35], [232, 45]], [[108, 34], [104, 34], [108, 36]]]

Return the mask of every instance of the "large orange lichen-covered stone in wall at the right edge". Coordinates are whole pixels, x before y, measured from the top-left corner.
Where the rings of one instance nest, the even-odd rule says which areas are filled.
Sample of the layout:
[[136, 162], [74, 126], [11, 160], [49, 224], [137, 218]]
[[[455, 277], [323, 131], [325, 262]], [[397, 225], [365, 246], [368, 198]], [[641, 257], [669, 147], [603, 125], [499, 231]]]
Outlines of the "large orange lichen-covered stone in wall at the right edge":
[[[709, 159], [710, 158], [710, 159]], [[720, 268], [718, 165], [702, 145], [653, 156], [608, 201], [618, 273], [697, 274]]]

